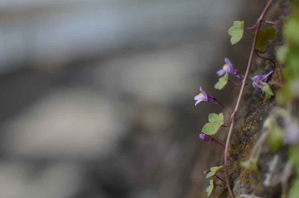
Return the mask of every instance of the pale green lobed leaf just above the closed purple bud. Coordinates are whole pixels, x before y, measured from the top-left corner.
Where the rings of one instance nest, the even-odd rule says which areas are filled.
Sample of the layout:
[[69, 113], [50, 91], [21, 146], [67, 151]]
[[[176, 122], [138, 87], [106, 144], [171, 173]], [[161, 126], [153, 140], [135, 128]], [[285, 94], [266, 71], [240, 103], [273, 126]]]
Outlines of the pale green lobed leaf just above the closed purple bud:
[[219, 113], [219, 115], [217, 115], [216, 113], [210, 113], [208, 119], [210, 123], [204, 125], [204, 127], [202, 128], [202, 132], [206, 135], [215, 135], [219, 127], [224, 124], [223, 113]]

